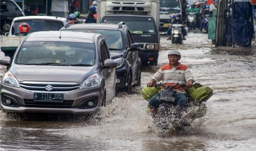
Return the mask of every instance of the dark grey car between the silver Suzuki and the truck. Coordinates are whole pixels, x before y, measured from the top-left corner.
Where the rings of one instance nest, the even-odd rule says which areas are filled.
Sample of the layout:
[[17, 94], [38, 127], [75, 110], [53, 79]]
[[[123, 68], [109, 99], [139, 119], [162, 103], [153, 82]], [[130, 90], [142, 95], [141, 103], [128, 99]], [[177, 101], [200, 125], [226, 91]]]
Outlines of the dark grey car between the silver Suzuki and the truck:
[[141, 61], [129, 28], [123, 22], [119, 24], [75, 24], [62, 30], [100, 33], [110, 49], [111, 59], [116, 60], [117, 88], [132, 93], [132, 86], [140, 86]]

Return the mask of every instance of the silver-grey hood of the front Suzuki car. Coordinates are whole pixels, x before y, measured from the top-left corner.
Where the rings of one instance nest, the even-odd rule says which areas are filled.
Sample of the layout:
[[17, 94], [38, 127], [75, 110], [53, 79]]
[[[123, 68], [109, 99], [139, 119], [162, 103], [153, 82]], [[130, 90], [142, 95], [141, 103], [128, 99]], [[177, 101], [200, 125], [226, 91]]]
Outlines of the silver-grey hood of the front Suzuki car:
[[19, 82], [76, 82], [97, 72], [95, 67], [15, 65], [10, 68]]

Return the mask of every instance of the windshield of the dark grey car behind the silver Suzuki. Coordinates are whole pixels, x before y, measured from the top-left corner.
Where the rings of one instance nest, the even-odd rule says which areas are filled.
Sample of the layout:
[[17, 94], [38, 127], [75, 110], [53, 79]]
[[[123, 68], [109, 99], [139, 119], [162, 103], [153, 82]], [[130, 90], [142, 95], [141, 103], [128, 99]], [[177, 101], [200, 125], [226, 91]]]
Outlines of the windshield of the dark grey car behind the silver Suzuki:
[[81, 31], [88, 33], [100, 33], [106, 40], [110, 50], [123, 50], [123, 40], [121, 31], [117, 30], [96, 30], [96, 29], [68, 29], [68, 31]]

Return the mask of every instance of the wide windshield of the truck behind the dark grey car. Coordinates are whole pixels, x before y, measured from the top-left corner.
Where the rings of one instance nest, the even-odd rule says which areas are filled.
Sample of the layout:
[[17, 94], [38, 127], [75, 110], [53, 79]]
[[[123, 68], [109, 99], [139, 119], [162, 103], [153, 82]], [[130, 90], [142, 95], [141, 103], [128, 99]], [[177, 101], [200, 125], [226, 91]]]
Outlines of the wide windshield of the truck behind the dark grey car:
[[105, 16], [104, 23], [118, 24], [120, 21], [126, 23], [133, 34], [155, 34], [156, 27], [152, 18], [133, 16]]

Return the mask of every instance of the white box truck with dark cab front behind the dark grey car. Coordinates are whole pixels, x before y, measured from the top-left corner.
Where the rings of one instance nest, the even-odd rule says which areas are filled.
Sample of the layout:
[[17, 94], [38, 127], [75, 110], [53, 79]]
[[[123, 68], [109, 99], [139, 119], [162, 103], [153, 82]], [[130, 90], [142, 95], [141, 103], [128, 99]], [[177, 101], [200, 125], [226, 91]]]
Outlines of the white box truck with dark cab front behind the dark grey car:
[[140, 45], [144, 65], [157, 65], [159, 53], [159, 0], [97, 0], [97, 23], [123, 21]]

